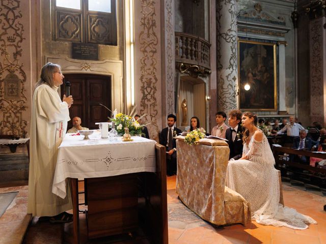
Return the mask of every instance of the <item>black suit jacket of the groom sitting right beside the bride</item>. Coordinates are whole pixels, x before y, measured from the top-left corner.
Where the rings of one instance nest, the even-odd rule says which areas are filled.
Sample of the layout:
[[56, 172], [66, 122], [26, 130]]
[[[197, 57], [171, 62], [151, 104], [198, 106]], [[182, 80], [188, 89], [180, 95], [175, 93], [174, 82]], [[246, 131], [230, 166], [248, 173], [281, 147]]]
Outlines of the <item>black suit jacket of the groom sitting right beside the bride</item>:
[[[237, 136], [234, 141], [232, 140], [232, 128], [228, 128], [225, 133], [225, 139], [227, 139], [229, 148], [230, 148], [230, 157], [229, 159], [239, 159], [242, 157], [242, 127], [239, 125], [236, 131]], [[239, 136], [238, 136], [239, 135]]]

